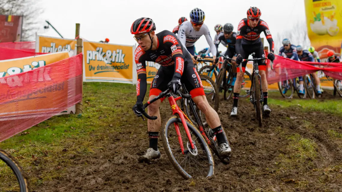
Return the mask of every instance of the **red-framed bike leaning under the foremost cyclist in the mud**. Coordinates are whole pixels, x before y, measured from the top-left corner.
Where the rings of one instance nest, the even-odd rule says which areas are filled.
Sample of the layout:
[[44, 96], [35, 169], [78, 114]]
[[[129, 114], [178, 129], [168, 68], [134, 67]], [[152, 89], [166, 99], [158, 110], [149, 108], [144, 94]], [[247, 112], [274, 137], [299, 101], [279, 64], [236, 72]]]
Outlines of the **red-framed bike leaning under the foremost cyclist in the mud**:
[[[161, 131], [161, 138], [165, 152], [177, 172], [184, 178], [210, 177], [214, 174], [214, 159], [209, 147], [214, 151], [221, 162], [229, 163], [229, 157], [220, 156], [218, 144], [214, 133], [208, 126], [203, 125], [195, 110], [195, 103], [188, 94], [184, 84], [182, 84], [183, 92], [178, 91], [180, 96], [176, 96], [168, 89], [161, 92], [154, 99], [147, 101], [143, 105], [143, 115], [150, 119], [156, 120], [156, 116], [149, 116], [145, 112], [145, 108], [153, 102], [163, 97], [168, 97], [172, 116], [165, 123]], [[187, 98], [190, 102], [190, 108], [196, 118], [198, 128], [189, 120], [185, 113], [178, 107], [176, 101]], [[180, 128], [183, 126], [183, 128]], [[223, 132], [224, 133], [224, 132]]]

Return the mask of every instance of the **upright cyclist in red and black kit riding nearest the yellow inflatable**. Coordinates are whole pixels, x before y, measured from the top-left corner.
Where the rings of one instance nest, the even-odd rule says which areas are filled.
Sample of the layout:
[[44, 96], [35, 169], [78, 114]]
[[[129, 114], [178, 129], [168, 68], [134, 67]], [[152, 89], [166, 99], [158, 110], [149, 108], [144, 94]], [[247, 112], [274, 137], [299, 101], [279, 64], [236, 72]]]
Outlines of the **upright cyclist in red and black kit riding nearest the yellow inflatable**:
[[[261, 11], [259, 8], [251, 7], [247, 10], [247, 18], [244, 18], [240, 21], [237, 29], [236, 36], [236, 63], [239, 65], [242, 62], [242, 59], [248, 59], [248, 56], [255, 53], [257, 58], [265, 57], [264, 46], [260, 39], [260, 33], [264, 32], [266, 39], [269, 43], [270, 52], [267, 55], [267, 58], [270, 60], [274, 60], [274, 42], [271, 36], [271, 32], [269, 31], [268, 25], [262, 19], [260, 19]], [[237, 104], [241, 90], [241, 82], [244, 78], [243, 74], [245, 73], [247, 62], [242, 62], [242, 70], [237, 68], [237, 78], [234, 85], [234, 102], [233, 108], [231, 112], [231, 116], [237, 115]], [[267, 105], [267, 80], [266, 80], [266, 63], [265, 60], [259, 60], [259, 73], [261, 76], [262, 82], [262, 92], [264, 96], [264, 112], [269, 114], [271, 109]]]

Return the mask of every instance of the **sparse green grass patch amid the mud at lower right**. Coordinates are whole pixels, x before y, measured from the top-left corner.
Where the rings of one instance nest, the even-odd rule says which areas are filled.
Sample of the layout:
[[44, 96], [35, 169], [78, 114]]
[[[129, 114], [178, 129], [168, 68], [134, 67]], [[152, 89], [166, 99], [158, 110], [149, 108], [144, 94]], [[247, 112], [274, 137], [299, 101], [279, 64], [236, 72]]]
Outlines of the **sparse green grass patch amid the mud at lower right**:
[[311, 161], [317, 156], [317, 143], [299, 134], [289, 136], [288, 140], [289, 144], [285, 147], [284, 153], [277, 157], [276, 164], [279, 168], [301, 169], [312, 165]]

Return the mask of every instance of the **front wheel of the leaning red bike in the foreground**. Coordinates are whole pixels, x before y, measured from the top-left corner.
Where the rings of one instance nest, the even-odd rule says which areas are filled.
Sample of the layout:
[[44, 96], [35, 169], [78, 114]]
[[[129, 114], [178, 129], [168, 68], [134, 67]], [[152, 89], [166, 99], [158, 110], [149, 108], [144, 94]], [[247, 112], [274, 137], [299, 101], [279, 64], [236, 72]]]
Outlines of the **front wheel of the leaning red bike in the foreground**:
[[[173, 115], [161, 133], [165, 153], [184, 179], [211, 177], [214, 174], [214, 160], [208, 144], [193, 124], [186, 121], [186, 125], [194, 148], [191, 147], [182, 120]], [[180, 143], [183, 144], [184, 151]]]

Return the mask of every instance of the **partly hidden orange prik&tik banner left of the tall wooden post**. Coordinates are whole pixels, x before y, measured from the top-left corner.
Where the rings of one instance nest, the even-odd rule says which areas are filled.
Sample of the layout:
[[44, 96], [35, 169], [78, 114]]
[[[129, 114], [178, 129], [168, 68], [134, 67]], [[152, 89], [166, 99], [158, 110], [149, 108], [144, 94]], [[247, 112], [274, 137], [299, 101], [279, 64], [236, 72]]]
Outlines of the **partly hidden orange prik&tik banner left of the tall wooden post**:
[[61, 39], [45, 36], [36, 37], [36, 52], [56, 53], [61, 51], [75, 50], [75, 39]]

